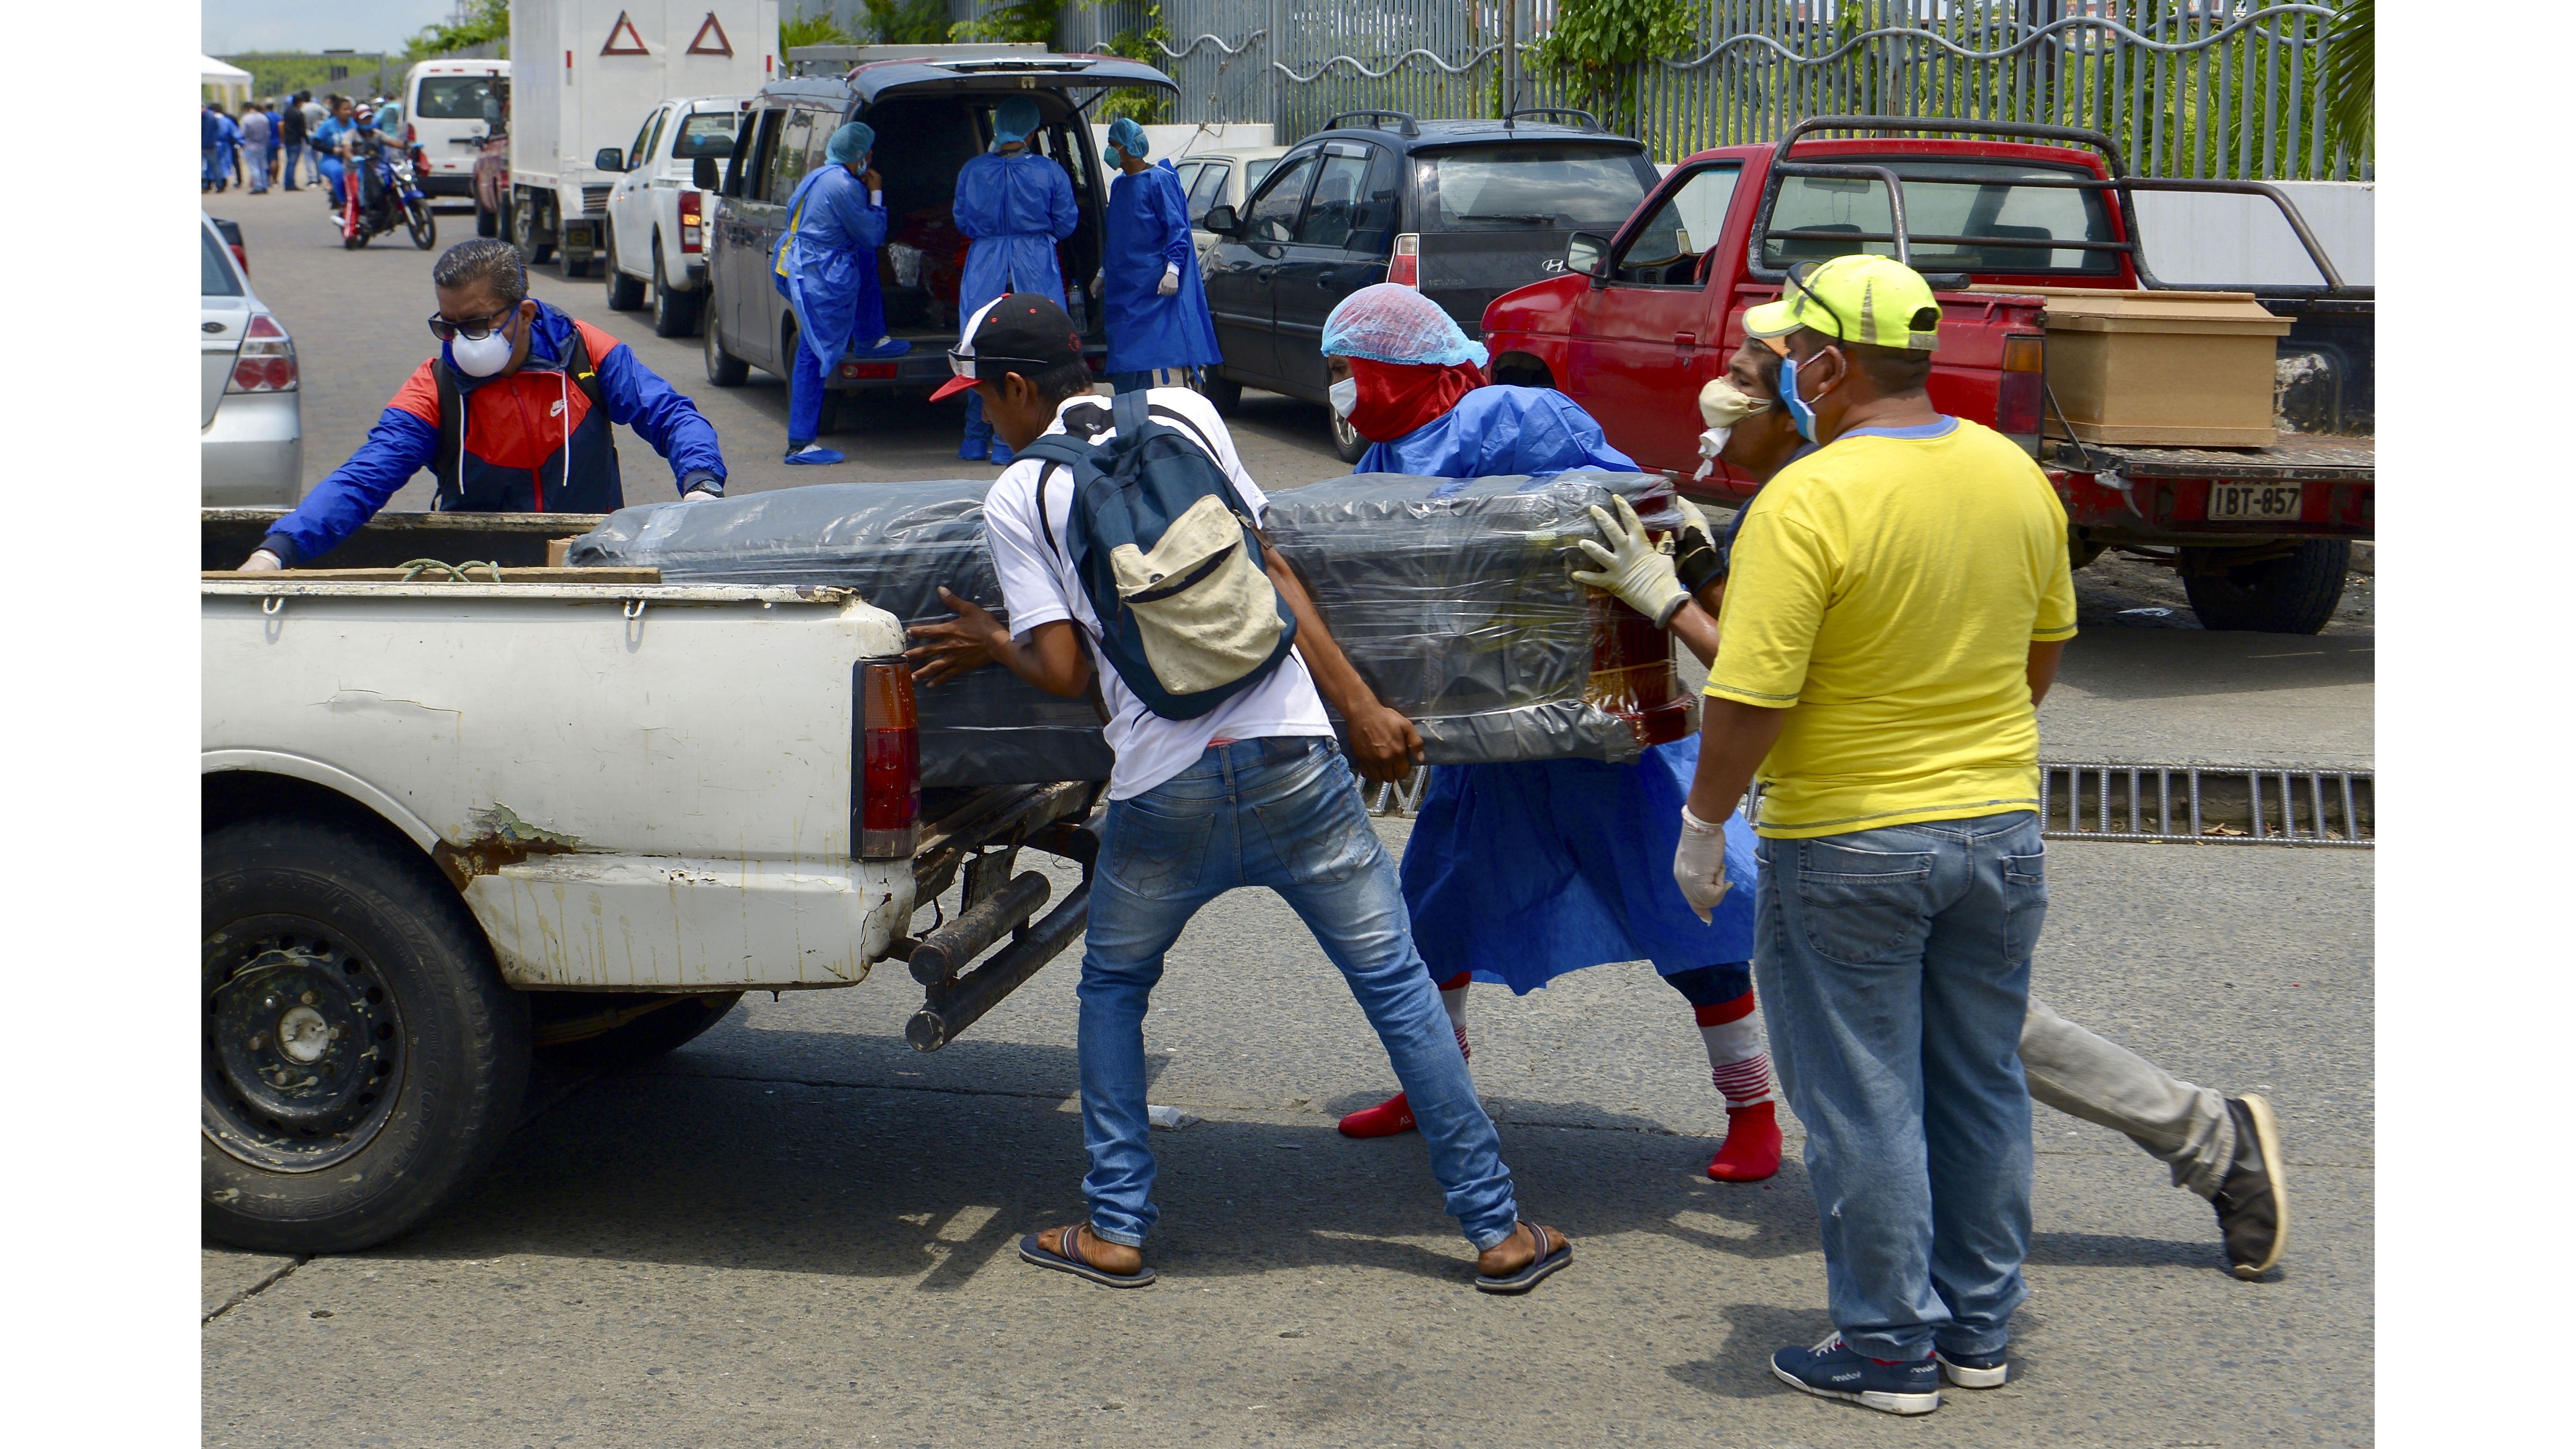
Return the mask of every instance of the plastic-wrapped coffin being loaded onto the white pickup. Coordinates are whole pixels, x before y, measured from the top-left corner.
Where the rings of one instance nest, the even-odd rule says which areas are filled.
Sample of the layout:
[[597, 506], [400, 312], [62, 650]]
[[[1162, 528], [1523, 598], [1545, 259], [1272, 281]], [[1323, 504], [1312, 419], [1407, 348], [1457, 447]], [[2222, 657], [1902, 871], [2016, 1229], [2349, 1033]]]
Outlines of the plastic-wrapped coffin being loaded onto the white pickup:
[[[670, 583], [855, 588], [904, 624], [948, 619], [940, 585], [1002, 611], [979, 480], [845, 482], [611, 513], [572, 567], [659, 567]], [[1592, 606], [1569, 578], [1587, 505], [1610, 492], [1667, 526], [1651, 474], [1546, 480], [1360, 474], [1270, 495], [1265, 531], [1311, 583], [1360, 676], [1417, 722], [1432, 763], [1638, 753], [1584, 704]], [[1595, 534], [1597, 536], [1597, 534]], [[922, 784], [1108, 779], [1087, 699], [984, 668], [920, 691]]]

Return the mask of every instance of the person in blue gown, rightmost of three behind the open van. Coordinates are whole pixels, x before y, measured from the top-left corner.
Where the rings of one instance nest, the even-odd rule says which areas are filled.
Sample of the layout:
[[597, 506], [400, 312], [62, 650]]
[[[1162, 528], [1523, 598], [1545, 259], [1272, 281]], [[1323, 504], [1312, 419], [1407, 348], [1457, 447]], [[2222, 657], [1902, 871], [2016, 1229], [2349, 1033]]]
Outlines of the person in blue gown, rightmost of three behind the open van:
[[1100, 263], [1100, 320], [1110, 333], [1110, 387], [1180, 387], [1221, 361], [1208, 289], [1190, 242], [1190, 199], [1172, 162], [1146, 165], [1146, 137], [1128, 116], [1110, 124], [1108, 255]]

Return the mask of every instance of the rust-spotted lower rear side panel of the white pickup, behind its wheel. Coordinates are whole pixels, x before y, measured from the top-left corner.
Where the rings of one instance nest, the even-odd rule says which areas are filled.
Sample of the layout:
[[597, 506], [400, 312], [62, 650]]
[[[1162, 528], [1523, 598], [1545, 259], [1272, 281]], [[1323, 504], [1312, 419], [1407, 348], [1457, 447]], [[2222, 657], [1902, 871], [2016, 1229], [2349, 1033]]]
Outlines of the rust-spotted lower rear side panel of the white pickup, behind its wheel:
[[858, 985], [912, 920], [912, 861], [562, 853], [464, 895], [515, 987]]

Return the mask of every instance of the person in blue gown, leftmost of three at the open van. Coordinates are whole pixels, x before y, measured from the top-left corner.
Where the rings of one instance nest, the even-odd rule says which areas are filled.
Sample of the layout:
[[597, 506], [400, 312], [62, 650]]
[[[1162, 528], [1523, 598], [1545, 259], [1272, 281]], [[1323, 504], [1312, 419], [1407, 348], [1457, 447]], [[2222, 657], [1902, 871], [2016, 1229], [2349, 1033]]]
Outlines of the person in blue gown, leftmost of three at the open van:
[[770, 276], [796, 312], [796, 361], [788, 376], [788, 462], [837, 464], [842, 454], [817, 443], [824, 384], [845, 353], [894, 358], [912, 343], [886, 335], [886, 294], [876, 284], [876, 248], [886, 245], [886, 183], [868, 165], [876, 131], [850, 121], [824, 144], [827, 165], [814, 168], [788, 196], [788, 229], [778, 237]]

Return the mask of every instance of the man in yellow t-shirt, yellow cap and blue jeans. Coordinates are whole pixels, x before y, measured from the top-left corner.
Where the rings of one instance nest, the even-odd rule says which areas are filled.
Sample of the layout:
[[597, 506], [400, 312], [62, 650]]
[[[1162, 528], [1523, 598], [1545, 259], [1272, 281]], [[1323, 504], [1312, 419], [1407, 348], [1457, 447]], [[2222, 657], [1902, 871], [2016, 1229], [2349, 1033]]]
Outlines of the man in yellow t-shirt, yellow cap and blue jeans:
[[[1674, 879], [1759, 773], [1754, 975], [1808, 1129], [1837, 1336], [1801, 1390], [1888, 1413], [2004, 1382], [2030, 1245], [2014, 1055], [2048, 908], [2038, 699], [2076, 632], [2066, 511], [1924, 382], [1940, 304], [1873, 255], [1793, 273], [1744, 325], [1819, 451], [1747, 505]], [[1937, 1204], [1937, 1214], [1935, 1214]]]

